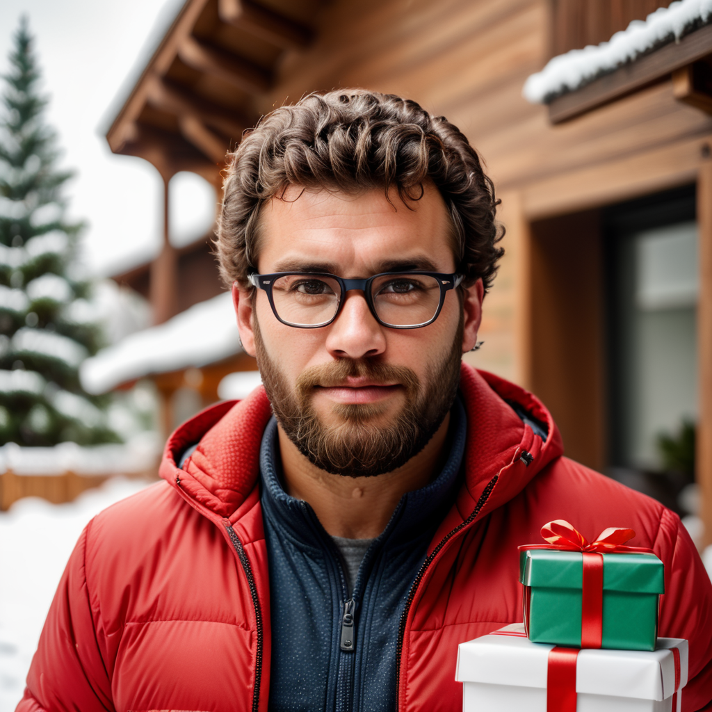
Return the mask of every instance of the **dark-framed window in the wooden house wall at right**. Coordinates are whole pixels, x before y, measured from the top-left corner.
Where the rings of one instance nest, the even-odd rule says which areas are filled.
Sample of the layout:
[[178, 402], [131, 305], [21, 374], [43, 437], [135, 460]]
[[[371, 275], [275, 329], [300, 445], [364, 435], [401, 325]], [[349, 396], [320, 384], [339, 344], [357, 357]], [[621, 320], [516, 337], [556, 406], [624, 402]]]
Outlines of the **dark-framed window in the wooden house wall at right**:
[[677, 508], [676, 492], [693, 473], [671, 464], [661, 438], [684, 449], [685, 424], [697, 416], [694, 187], [609, 208], [603, 224], [608, 461], [613, 476], [632, 486], [631, 478], [646, 479], [637, 488]]

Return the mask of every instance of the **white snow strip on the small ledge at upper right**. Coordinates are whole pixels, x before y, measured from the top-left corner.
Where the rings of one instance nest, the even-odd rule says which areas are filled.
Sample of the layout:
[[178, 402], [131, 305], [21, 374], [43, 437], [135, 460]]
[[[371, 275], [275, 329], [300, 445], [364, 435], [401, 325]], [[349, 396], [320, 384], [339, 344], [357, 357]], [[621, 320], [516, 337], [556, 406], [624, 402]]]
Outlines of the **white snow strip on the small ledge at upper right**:
[[523, 95], [533, 104], [549, 103], [561, 94], [582, 88], [642, 54], [686, 34], [712, 19], [712, 0], [679, 0], [643, 20], [634, 20], [607, 42], [573, 49], [549, 61], [524, 84]]

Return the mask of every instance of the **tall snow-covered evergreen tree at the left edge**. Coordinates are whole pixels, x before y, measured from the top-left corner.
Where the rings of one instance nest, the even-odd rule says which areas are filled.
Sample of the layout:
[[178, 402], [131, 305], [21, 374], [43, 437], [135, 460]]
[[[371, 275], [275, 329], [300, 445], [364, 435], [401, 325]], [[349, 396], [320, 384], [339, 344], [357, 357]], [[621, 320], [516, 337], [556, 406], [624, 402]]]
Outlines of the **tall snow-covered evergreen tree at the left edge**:
[[81, 224], [65, 219], [56, 135], [26, 19], [14, 35], [0, 108], [0, 443], [117, 441], [78, 366], [100, 346], [77, 274]]

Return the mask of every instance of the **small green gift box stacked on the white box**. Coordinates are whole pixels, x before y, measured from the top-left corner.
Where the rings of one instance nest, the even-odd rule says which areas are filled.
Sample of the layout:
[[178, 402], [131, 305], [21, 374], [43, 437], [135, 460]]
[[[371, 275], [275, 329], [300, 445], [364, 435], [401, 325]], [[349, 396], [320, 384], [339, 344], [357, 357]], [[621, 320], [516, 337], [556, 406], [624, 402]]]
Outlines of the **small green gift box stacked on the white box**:
[[[581, 647], [584, 556], [553, 548], [520, 551], [519, 580], [525, 585], [524, 622], [530, 641]], [[654, 650], [663, 562], [644, 553], [596, 556], [603, 559], [600, 646]]]

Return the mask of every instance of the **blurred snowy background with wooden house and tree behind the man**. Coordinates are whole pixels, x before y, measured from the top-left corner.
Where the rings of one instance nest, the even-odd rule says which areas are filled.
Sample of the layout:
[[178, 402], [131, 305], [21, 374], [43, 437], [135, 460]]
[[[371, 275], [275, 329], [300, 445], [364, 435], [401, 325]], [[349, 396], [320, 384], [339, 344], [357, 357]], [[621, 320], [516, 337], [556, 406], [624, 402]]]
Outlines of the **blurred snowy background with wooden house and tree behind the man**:
[[[23, 14], [44, 153], [11, 137]], [[259, 382], [211, 256], [220, 173], [313, 90], [397, 93], [464, 131], [507, 229], [466, 360], [679, 513], [712, 569], [711, 22], [700, 0], [5, 0], [0, 711], [88, 518]]]

